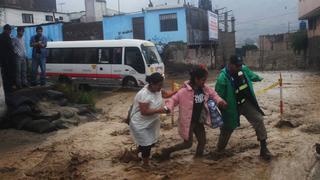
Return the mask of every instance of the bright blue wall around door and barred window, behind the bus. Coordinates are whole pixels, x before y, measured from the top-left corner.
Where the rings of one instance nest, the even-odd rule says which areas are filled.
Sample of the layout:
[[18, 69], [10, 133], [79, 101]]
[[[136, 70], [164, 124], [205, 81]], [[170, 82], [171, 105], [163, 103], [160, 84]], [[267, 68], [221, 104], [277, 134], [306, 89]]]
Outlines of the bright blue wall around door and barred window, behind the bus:
[[[178, 30], [161, 32], [159, 17], [161, 14], [169, 13], [177, 13]], [[167, 44], [174, 41], [187, 42], [186, 10], [184, 8], [152, 10], [142, 13], [104, 17], [104, 39], [132, 39], [132, 18], [134, 17], [144, 17], [146, 40], [153, 41], [156, 44]]]

